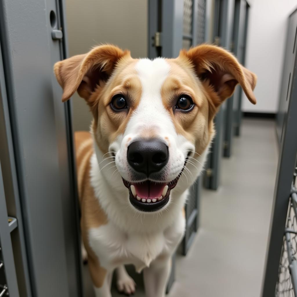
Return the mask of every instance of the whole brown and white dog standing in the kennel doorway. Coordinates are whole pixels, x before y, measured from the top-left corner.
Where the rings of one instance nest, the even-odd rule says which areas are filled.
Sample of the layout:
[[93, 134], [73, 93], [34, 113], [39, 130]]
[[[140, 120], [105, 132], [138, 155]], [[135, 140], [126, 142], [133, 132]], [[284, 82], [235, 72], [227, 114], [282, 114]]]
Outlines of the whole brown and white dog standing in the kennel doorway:
[[226, 50], [200, 45], [176, 59], [132, 59], [113, 45], [57, 62], [64, 92], [93, 113], [91, 132], [75, 134], [81, 232], [97, 297], [135, 283], [165, 296], [170, 257], [184, 234], [188, 188], [203, 169], [213, 118], [239, 83], [255, 104], [256, 76]]

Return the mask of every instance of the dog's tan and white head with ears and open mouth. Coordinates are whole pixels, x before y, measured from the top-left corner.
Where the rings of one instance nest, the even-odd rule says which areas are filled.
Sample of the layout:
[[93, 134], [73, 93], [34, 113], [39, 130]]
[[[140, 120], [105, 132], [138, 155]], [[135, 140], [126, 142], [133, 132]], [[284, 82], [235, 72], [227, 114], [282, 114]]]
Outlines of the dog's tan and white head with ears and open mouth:
[[110, 180], [109, 168], [116, 167], [140, 211], [162, 209], [173, 188], [181, 193], [195, 181], [214, 136], [214, 115], [238, 83], [256, 103], [255, 74], [212, 45], [154, 60], [102, 45], [54, 70], [62, 101], [78, 91], [93, 113], [101, 173]]

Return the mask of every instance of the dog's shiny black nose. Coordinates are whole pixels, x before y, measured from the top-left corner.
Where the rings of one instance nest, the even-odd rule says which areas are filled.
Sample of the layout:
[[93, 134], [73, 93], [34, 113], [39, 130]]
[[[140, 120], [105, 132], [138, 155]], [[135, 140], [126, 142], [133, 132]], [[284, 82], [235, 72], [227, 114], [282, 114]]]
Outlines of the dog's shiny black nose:
[[138, 172], [149, 176], [168, 162], [168, 147], [157, 139], [132, 142], [127, 151], [128, 163]]

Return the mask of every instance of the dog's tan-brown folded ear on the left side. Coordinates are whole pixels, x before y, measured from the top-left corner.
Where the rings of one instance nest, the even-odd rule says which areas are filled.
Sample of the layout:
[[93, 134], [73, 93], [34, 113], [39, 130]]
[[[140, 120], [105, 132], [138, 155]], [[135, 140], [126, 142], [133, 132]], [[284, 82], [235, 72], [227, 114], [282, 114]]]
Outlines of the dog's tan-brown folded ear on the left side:
[[80, 97], [88, 102], [99, 80], [108, 80], [117, 62], [124, 56], [130, 56], [130, 52], [114, 45], [100, 45], [89, 53], [57, 62], [54, 72], [63, 88], [62, 101], [67, 101], [78, 91]]

